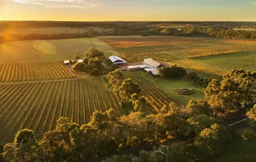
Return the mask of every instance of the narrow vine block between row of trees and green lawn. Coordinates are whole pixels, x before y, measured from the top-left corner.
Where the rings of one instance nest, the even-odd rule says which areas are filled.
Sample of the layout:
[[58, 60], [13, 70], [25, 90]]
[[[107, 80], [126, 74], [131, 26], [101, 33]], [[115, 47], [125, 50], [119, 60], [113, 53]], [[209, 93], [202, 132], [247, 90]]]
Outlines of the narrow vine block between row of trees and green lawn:
[[[174, 100], [158, 89], [154, 84], [149, 82], [142, 73], [138, 72], [125, 72], [125, 77], [131, 78], [133, 82], [138, 83], [141, 94], [146, 97], [147, 102], [157, 111], [165, 105], [169, 105]], [[145, 74], [147, 75], [147, 74]]]

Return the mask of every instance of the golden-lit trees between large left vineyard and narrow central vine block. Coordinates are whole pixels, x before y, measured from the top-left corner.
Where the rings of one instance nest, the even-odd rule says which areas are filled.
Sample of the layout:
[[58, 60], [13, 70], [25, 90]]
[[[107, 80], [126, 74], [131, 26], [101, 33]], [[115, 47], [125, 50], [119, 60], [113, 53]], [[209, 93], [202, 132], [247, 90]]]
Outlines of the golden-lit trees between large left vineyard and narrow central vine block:
[[130, 78], [124, 79], [123, 74], [118, 69], [108, 73], [107, 79], [121, 103], [132, 102], [131, 95], [140, 93], [138, 84], [132, 82]]

